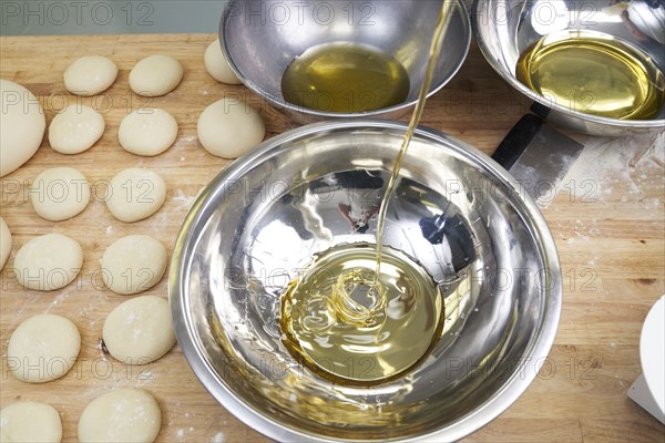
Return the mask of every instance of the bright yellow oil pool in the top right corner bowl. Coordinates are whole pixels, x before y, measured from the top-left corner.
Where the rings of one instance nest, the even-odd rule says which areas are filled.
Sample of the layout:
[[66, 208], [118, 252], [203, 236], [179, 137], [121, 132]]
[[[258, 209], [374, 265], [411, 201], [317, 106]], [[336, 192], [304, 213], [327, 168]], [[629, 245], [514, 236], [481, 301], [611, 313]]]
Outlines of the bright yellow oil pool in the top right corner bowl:
[[520, 56], [516, 78], [555, 104], [610, 119], [649, 120], [665, 102], [665, 79], [648, 56], [587, 31], [540, 39]]

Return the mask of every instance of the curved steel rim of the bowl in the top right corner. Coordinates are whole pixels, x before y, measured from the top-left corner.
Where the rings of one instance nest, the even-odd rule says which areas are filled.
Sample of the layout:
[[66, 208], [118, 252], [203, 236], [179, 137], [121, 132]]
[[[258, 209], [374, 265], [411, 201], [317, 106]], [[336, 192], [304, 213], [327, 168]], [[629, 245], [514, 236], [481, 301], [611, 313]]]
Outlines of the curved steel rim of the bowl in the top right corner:
[[505, 69], [503, 69], [503, 66], [501, 66], [501, 64], [499, 64], [497, 62], [488, 43], [483, 39], [478, 38], [478, 35], [480, 35], [479, 9], [482, 7], [483, 1], [484, 0], [474, 0], [473, 1], [473, 13], [472, 13], [473, 18], [471, 20], [471, 29], [473, 30], [473, 35], [477, 37], [475, 42], [478, 43], [478, 47], [480, 48], [480, 52], [483, 54], [483, 56], [485, 58], [488, 63], [490, 63], [490, 65], [494, 69], [494, 71], [497, 71], [503, 80], [505, 80], [508, 83], [510, 83], [510, 85], [512, 87], [516, 89], [518, 91], [520, 91], [522, 94], [526, 95], [534, 102], [538, 102], [538, 103], [546, 106], [550, 110], [560, 112], [562, 114], [569, 114], [573, 117], [576, 117], [576, 119], [580, 119], [580, 120], [583, 120], [583, 121], [586, 121], [590, 123], [614, 126], [617, 128], [625, 127], [626, 125], [631, 125], [631, 127], [636, 127], [636, 128], [654, 128], [654, 127], [658, 127], [658, 126], [665, 127], [665, 119], [618, 120], [618, 119], [608, 119], [608, 117], [603, 117], [603, 116], [597, 116], [597, 115], [592, 115], [592, 114], [586, 114], [583, 112], [574, 111], [574, 110], [571, 110], [570, 107], [562, 106], [557, 103], [552, 103], [552, 102], [548, 101], [545, 97], [543, 97], [542, 95], [538, 94], [536, 92], [534, 92], [531, 89], [529, 89], [528, 86], [525, 86], [518, 79], [515, 79], [514, 75], [507, 72]]

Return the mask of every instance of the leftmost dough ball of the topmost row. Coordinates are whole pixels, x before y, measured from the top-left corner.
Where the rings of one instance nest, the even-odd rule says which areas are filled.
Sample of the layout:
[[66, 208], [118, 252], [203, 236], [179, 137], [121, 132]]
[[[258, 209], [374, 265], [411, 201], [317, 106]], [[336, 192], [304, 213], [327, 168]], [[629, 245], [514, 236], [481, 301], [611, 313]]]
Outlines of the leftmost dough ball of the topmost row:
[[117, 78], [112, 60], [88, 55], [75, 60], [64, 71], [64, 87], [72, 94], [90, 96], [106, 91]]

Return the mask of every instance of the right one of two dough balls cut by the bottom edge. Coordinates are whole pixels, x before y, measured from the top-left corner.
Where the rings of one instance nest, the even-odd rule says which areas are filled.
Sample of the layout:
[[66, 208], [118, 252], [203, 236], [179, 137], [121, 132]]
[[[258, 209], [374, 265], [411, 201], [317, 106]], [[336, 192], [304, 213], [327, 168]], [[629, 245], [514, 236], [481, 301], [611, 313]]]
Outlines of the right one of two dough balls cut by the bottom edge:
[[162, 425], [155, 399], [142, 389], [119, 389], [94, 399], [79, 419], [79, 442], [154, 442]]

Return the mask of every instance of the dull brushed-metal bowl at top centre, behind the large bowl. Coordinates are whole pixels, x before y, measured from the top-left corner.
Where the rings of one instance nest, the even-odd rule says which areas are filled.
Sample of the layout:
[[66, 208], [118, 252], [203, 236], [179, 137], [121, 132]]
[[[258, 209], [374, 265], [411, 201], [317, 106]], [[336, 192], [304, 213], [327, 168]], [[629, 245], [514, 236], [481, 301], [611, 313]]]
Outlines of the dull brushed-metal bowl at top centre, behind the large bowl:
[[[429, 48], [443, 1], [229, 1], [219, 25], [222, 49], [232, 69], [252, 91], [299, 123], [332, 117], [397, 119], [415, 106]], [[467, 58], [471, 23], [461, 1], [446, 0], [451, 22], [438, 61], [430, 95], [446, 85]], [[305, 50], [352, 42], [392, 55], [409, 74], [407, 100], [378, 111], [320, 112], [285, 102], [282, 76]]]

